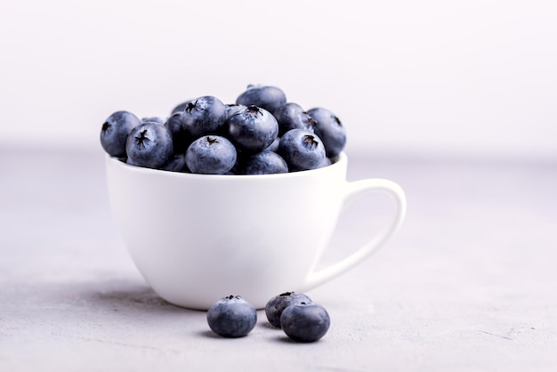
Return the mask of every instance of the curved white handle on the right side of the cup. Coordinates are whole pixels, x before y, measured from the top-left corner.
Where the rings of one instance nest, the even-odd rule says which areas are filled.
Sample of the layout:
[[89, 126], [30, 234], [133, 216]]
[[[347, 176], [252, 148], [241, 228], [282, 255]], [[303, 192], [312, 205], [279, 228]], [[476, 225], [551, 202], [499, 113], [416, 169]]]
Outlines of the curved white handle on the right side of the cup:
[[404, 190], [392, 181], [380, 178], [359, 180], [354, 182], [346, 182], [347, 190], [343, 200], [343, 207], [348, 206], [349, 203], [356, 198], [362, 197], [369, 192], [383, 192], [391, 196], [396, 203], [396, 211], [392, 216], [392, 221], [379, 235], [370, 239], [363, 247], [360, 247], [351, 255], [344, 257], [341, 261], [333, 263], [325, 269], [319, 271], [312, 271], [303, 283], [301, 290], [309, 290], [313, 287], [325, 283], [330, 279], [343, 274], [350, 270], [356, 264], [361, 263], [369, 255], [373, 254], [379, 247], [391, 239], [392, 235], [399, 230], [404, 217], [406, 215], [406, 196]]

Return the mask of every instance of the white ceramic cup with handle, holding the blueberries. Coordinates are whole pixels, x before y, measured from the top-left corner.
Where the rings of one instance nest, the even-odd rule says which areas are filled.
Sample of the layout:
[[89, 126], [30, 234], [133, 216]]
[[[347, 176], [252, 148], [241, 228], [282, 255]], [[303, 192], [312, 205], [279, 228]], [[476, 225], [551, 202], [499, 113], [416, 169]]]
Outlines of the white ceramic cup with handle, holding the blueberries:
[[[240, 295], [258, 309], [274, 295], [304, 292], [360, 263], [398, 230], [400, 186], [346, 181], [348, 159], [289, 174], [183, 174], [107, 157], [109, 199], [125, 246], [143, 277], [169, 303], [208, 309]], [[370, 191], [396, 204], [391, 222], [341, 261], [315, 271], [343, 206]]]

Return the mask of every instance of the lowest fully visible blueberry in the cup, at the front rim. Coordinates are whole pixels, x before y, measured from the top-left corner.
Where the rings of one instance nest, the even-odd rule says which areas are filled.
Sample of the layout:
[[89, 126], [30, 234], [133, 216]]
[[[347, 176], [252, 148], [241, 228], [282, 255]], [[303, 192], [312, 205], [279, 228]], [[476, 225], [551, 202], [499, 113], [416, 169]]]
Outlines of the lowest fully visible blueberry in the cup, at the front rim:
[[206, 135], [191, 142], [186, 165], [192, 173], [227, 174], [236, 164], [236, 148], [227, 138]]

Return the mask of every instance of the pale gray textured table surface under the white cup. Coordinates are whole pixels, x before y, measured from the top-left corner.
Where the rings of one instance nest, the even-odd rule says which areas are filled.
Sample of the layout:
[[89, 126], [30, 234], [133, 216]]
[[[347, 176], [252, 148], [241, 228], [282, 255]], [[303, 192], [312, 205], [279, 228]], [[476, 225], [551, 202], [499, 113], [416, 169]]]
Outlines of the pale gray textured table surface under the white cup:
[[[406, 190], [398, 234], [308, 292], [331, 328], [296, 344], [264, 312], [248, 336], [214, 336], [204, 311], [146, 285], [109, 210], [104, 154], [0, 150], [2, 371], [557, 370], [557, 162], [350, 156], [349, 180]], [[343, 214], [324, 263], [389, 213]]]

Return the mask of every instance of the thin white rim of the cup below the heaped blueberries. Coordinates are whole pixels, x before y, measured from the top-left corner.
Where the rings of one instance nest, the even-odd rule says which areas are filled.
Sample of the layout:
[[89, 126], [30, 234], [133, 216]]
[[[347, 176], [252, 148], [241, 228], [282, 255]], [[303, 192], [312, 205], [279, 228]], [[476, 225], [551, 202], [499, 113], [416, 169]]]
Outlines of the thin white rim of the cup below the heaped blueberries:
[[241, 180], [249, 180], [249, 179], [276, 179], [276, 178], [287, 178], [287, 177], [303, 177], [304, 175], [310, 174], [319, 174], [319, 173], [326, 173], [331, 172], [334, 169], [337, 169], [341, 166], [345, 166], [348, 161], [348, 157], [346, 153], [343, 151], [339, 154], [338, 159], [335, 163], [331, 164], [330, 166], [323, 166], [317, 169], [308, 169], [303, 171], [295, 171], [295, 172], [288, 172], [285, 174], [192, 174], [192, 173], [185, 173], [185, 172], [175, 172], [175, 171], [166, 171], [164, 169], [155, 169], [155, 168], [148, 168], [144, 166], [133, 166], [130, 164], [125, 163], [124, 161], [120, 160], [119, 158], [112, 157], [109, 154], [106, 154], [107, 164], [112, 164], [117, 166], [118, 168], [125, 169], [129, 172], [135, 173], [142, 173], [142, 174], [151, 174], [151, 175], [167, 175], [169, 177], [178, 177], [184, 179], [226, 179], [226, 180], [234, 180], [234, 179], [241, 179]]

